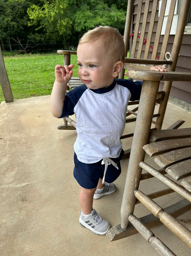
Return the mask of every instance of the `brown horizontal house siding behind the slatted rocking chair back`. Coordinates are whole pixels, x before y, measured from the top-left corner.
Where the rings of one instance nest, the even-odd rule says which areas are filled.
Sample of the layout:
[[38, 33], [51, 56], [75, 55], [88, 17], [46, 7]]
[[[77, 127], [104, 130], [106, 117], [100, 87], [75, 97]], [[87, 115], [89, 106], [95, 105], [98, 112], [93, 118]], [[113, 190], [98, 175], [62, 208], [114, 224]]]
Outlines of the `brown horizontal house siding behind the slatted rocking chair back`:
[[[143, 1], [145, 2], [145, 1]], [[132, 31], [134, 32], [135, 28], [135, 22], [136, 22], [136, 16], [137, 16], [137, 8], [138, 8], [138, 0], [135, 0], [134, 2], [134, 11], [133, 11], [133, 23], [132, 23]], [[158, 9], [158, 8], [157, 8]], [[147, 21], [150, 21], [151, 17], [151, 10], [152, 10], [152, 1], [149, 6], [149, 14], [148, 14], [148, 19]], [[143, 20], [143, 13], [144, 13], [144, 3], [142, 6], [142, 16], [140, 19], [140, 26]], [[155, 18], [155, 23], [154, 23], [154, 29], [153, 29], [153, 36], [151, 40], [151, 45], [154, 45], [154, 37], [155, 37], [155, 32], [157, 29], [157, 22], [158, 22], [158, 11], [156, 13], [156, 18]], [[148, 26], [146, 27], [146, 33], [145, 33], [145, 38], [147, 38], [147, 32], [148, 32]], [[163, 35], [161, 35], [160, 41], [159, 41], [159, 47], [158, 47], [158, 52], [157, 55], [160, 56], [160, 51], [161, 51], [161, 46], [162, 46], [162, 41], [163, 41]], [[169, 40], [168, 40], [168, 46], [166, 52], [171, 52], [172, 49], [172, 44], [173, 44], [173, 39], [175, 35], [170, 35]], [[139, 41], [139, 39], [138, 39]], [[132, 40], [130, 40], [130, 50], [131, 50], [131, 45], [132, 45]], [[138, 45], [136, 47], [136, 50], [138, 49]], [[142, 50], [142, 55], [141, 58], [144, 56], [144, 49], [145, 46], [143, 45], [143, 50]], [[151, 51], [151, 49], [150, 49]], [[151, 58], [151, 53], [149, 53], [149, 57]], [[175, 71], [177, 72], [191, 72], [191, 35], [184, 35], [182, 39], [182, 44], [181, 44], [181, 49], [180, 53], [178, 56], [177, 60], [177, 66]], [[161, 82], [159, 86], [159, 90], [162, 90], [163, 88], [163, 83]], [[191, 104], [191, 82], [172, 82], [172, 87], [170, 91], [170, 95], [182, 100], [183, 102]], [[180, 101], [179, 101], [180, 102]]]

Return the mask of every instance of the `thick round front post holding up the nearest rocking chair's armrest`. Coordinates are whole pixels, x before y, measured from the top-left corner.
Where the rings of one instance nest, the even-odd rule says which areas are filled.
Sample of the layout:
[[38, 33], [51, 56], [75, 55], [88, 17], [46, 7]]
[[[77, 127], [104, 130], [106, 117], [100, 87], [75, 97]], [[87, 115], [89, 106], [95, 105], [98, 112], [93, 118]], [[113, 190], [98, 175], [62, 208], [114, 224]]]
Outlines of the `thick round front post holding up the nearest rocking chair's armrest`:
[[[158, 87], [158, 81], [143, 81], [142, 93], [139, 102], [139, 111], [135, 124], [132, 149], [130, 153], [123, 201], [121, 205], [121, 228], [123, 229], [127, 228], [129, 223], [128, 217], [134, 211], [136, 198], [133, 191], [139, 187], [142, 171], [142, 169], [139, 167], [139, 162], [144, 160], [145, 152], [143, 150], [143, 146], [148, 142]], [[152, 95], [152, 97], [149, 98], [148, 104], [144, 104], [145, 101], [148, 102], [148, 95]]]

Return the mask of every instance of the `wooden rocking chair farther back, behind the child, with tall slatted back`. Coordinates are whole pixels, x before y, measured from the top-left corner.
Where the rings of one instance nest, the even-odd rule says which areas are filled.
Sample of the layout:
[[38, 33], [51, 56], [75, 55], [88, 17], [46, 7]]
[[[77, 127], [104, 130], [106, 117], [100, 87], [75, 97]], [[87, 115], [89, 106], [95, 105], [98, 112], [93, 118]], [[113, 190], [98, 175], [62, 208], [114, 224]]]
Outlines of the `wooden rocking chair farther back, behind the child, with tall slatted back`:
[[[168, 65], [167, 69], [168, 71], [175, 71], [178, 53], [180, 51], [183, 31], [185, 28], [185, 22], [180, 20], [179, 18], [179, 25], [180, 33], [177, 35], [178, 40], [176, 41], [176, 44], [173, 44], [173, 48], [171, 51], [171, 59], [166, 60], [166, 49], [168, 45], [168, 39], [169, 34], [171, 30], [171, 24], [173, 19], [173, 13], [176, 5], [176, 0], [171, 1], [170, 6], [170, 12], [168, 15], [168, 21], [166, 26], [166, 31], [164, 36], [161, 36], [161, 30], [162, 30], [162, 24], [164, 19], [164, 13], [166, 9], [166, 3], [167, 0], [162, 0], [161, 4], [161, 10], [158, 17], [158, 0], [153, 1], [143, 1], [145, 3], [142, 3], [142, 1], [139, 0], [138, 3], [138, 10], [137, 10], [137, 18], [135, 21], [135, 27], [132, 25], [132, 19], [133, 19], [133, 4], [134, 1], [129, 0], [128, 1], [128, 8], [127, 8], [127, 15], [126, 15], [126, 23], [125, 23], [125, 33], [124, 33], [124, 42], [125, 42], [125, 50], [126, 54], [128, 51], [128, 45], [129, 45], [129, 35], [130, 32], [133, 29], [134, 35], [133, 35], [133, 43], [132, 43], [132, 49], [130, 53], [130, 58], [125, 58], [124, 61], [124, 69], [120, 73], [119, 78], [124, 78], [124, 72], [125, 69], [150, 69], [153, 65]], [[151, 3], [150, 3], [151, 2]], [[152, 6], [151, 6], [152, 4]], [[152, 9], [152, 10], [151, 10]], [[183, 17], [187, 17], [186, 9], [184, 10]], [[154, 31], [154, 24], [157, 24], [157, 29]], [[153, 36], [155, 35], [155, 38], [153, 39]], [[162, 37], [162, 38], [161, 38]], [[132, 37], [131, 37], [132, 38]], [[145, 39], [147, 38], [147, 39]], [[162, 43], [161, 43], [162, 41]], [[154, 43], [153, 43], [154, 42]], [[151, 46], [153, 44], [153, 46]], [[152, 48], [152, 54], [149, 52], [149, 49]], [[160, 57], [158, 57], [158, 48], [161, 48], [160, 54], [158, 54]], [[169, 49], [168, 49], [169, 51]], [[76, 54], [76, 51], [66, 51], [66, 50], [58, 50], [59, 54], [64, 54], [64, 65], [69, 65], [71, 60], [71, 55]], [[144, 56], [143, 56], [144, 55]], [[142, 58], [143, 56], [143, 58]], [[157, 60], [156, 60], [157, 57]], [[142, 79], [141, 79], [142, 80]], [[163, 80], [164, 81], [164, 80]], [[81, 85], [82, 82], [79, 80], [78, 77], [72, 78], [72, 80], [68, 83], [68, 89], [74, 88], [76, 86]], [[171, 89], [172, 81], [165, 81], [164, 87], [162, 91], [159, 91], [157, 94], [156, 103], [159, 104], [159, 109], [156, 113], [153, 114], [153, 120], [152, 123], [154, 124], [154, 127], [151, 127], [151, 129], [159, 130], [162, 127], [164, 114], [166, 111], [166, 106], [169, 98], [169, 92]], [[138, 110], [138, 104], [139, 101], [135, 102], [129, 102], [128, 106], [134, 105], [133, 108], [128, 108], [126, 113], [126, 123], [134, 122], [136, 121], [137, 116], [137, 110]], [[135, 117], [132, 118], [130, 115], [134, 115]], [[129, 117], [130, 116], [130, 117]], [[64, 124], [59, 125], [58, 129], [60, 130], [73, 130], [75, 129], [75, 121], [73, 121], [70, 117], [63, 118]], [[70, 125], [68, 125], [68, 122]], [[171, 129], [177, 129], [182, 125], [184, 121], [178, 120], [175, 124], [172, 124]], [[129, 137], [132, 137], [133, 133], [125, 134], [121, 136], [121, 139], [126, 139]], [[124, 158], [128, 158], [130, 155], [130, 149], [125, 150]]]

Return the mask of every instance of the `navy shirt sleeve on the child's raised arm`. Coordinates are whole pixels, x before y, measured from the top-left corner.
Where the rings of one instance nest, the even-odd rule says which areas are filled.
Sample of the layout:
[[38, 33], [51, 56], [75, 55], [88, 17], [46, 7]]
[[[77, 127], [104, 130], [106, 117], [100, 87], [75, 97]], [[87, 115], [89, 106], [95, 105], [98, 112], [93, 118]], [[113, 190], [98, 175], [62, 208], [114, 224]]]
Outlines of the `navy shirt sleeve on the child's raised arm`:
[[81, 85], [66, 94], [63, 102], [62, 114], [59, 118], [72, 116], [74, 114], [74, 107], [86, 89], [87, 87], [85, 85]]

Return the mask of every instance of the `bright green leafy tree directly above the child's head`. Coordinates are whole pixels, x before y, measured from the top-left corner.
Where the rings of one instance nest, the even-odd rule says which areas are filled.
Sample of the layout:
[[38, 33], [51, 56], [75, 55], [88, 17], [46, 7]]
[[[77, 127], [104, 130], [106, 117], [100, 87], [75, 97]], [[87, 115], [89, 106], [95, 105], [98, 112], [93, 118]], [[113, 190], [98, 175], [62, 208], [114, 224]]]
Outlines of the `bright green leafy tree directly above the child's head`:
[[41, 3], [41, 6], [34, 4], [28, 9], [30, 26], [37, 26], [37, 31], [43, 29], [51, 41], [61, 39], [65, 49], [72, 34], [78, 37], [97, 25], [124, 28], [126, 11], [118, 10], [111, 1], [110, 6], [104, 0], [41, 0]]

